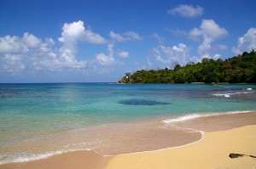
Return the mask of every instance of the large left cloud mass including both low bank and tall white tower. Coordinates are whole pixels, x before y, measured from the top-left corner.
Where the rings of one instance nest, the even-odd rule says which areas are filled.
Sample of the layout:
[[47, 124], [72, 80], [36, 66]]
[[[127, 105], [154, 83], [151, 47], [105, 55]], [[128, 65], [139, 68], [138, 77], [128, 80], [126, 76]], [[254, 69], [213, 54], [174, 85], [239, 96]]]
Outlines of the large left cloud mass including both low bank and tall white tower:
[[[87, 69], [88, 62], [77, 59], [78, 43], [107, 42], [99, 34], [85, 28], [81, 20], [65, 23], [58, 40], [61, 42], [61, 47], [56, 47], [52, 38], [46, 38], [43, 41], [28, 32], [24, 33], [23, 37], [9, 35], [0, 37], [0, 69], [12, 74], [18, 74], [24, 70]], [[109, 60], [113, 61], [113, 46], [109, 45], [108, 51]]]

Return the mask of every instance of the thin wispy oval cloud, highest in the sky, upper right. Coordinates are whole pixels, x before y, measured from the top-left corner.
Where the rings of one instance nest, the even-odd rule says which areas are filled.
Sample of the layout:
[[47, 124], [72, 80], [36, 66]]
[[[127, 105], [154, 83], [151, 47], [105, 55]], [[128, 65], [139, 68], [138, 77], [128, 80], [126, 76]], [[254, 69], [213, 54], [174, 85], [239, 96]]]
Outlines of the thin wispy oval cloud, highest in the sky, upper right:
[[185, 18], [195, 18], [203, 14], [204, 9], [200, 6], [193, 7], [192, 5], [180, 4], [176, 8], [167, 11], [167, 14], [177, 14]]

